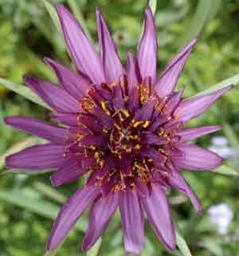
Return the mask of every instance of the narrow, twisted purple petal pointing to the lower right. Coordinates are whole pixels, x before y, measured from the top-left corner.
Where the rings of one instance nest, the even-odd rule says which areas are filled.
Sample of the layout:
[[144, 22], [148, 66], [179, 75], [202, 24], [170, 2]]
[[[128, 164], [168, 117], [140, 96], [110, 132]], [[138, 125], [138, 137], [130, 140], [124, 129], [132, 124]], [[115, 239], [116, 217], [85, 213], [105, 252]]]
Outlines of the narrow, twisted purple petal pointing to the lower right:
[[190, 185], [186, 182], [185, 179], [183, 179], [182, 175], [180, 175], [177, 170], [171, 169], [170, 175], [168, 177], [168, 183], [171, 187], [182, 191], [183, 194], [188, 196], [196, 211], [202, 211], [202, 205], [197, 195], [195, 195]]

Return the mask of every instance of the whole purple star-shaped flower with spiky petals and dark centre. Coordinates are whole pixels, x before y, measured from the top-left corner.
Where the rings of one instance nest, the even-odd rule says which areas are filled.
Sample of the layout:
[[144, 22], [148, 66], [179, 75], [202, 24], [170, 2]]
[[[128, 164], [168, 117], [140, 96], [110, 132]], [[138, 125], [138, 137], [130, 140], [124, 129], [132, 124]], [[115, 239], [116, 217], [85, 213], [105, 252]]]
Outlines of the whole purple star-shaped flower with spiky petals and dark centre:
[[54, 250], [92, 204], [84, 251], [100, 237], [117, 207], [127, 252], [139, 254], [143, 249], [143, 211], [163, 245], [174, 250], [167, 189], [178, 189], [201, 211], [180, 169], [204, 171], [222, 163], [214, 152], [187, 143], [220, 127], [183, 128], [184, 124], [205, 112], [230, 86], [189, 100], [182, 100], [183, 89], [174, 91], [197, 38], [157, 77], [158, 43], [150, 8], [145, 10], [137, 55], [128, 53], [126, 67], [100, 10], [96, 10], [100, 55], [69, 10], [58, 5], [57, 13], [77, 72], [45, 58], [60, 85], [35, 77], [25, 77], [25, 84], [49, 104], [53, 119], [64, 126], [25, 116], [5, 119], [13, 128], [49, 140], [8, 156], [8, 167], [25, 173], [54, 169], [51, 181], [56, 187], [88, 175], [84, 187], [61, 208], [47, 249]]

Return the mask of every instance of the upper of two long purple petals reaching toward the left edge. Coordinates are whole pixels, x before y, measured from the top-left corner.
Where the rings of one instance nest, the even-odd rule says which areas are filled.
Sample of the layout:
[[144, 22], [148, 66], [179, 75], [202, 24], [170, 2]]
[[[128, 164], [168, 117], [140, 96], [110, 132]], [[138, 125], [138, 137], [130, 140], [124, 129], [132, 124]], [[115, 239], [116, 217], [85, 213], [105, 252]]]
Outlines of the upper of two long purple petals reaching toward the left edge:
[[65, 128], [58, 128], [27, 116], [8, 116], [5, 123], [23, 132], [29, 132], [56, 144], [64, 144]]

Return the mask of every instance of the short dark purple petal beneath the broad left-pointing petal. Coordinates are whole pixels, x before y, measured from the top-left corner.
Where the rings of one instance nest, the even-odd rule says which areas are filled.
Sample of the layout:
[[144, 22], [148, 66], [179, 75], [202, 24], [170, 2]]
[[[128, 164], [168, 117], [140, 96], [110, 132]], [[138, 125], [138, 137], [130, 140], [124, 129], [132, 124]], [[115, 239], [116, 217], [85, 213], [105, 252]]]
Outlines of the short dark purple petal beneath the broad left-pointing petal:
[[62, 184], [72, 183], [80, 178], [84, 170], [76, 159], [65, 160], [65, 162], [51, 175], [51, 182], [54, 187]]

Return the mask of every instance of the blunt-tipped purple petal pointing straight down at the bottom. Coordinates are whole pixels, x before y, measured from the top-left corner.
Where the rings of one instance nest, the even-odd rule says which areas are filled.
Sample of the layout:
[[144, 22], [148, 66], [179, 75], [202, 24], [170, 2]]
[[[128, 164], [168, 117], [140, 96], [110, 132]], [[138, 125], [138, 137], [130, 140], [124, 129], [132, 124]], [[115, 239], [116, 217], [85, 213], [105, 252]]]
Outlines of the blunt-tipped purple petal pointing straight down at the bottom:
[[143, 249], [143, 212], [136, 191], [119, 195], [119, 210], [123, 229], [124, 248], [128, 253], [140, 254]]

